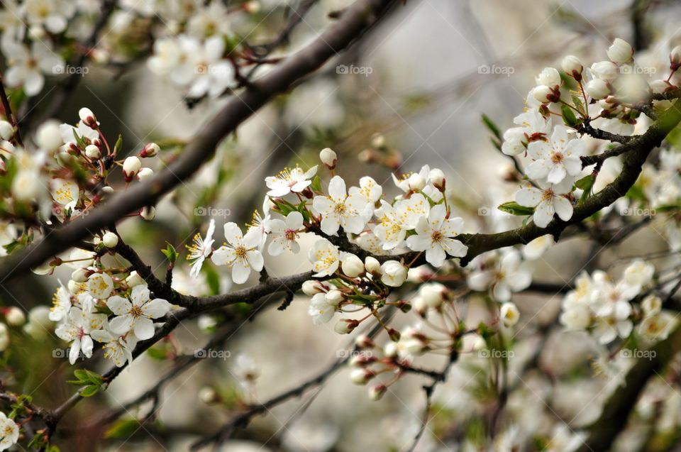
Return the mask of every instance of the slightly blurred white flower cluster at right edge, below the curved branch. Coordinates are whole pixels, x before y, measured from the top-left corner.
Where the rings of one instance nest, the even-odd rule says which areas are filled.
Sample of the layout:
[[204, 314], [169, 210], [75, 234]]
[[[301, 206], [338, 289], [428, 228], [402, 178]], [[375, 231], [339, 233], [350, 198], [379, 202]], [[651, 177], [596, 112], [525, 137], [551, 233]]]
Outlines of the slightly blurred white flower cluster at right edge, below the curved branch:
[[663, 301], [643, 289], [653, 280], [655, 267], [634, 260], [617, 282], [602, 270], [582, 273], [563, 300], [560, 323], [567, 329], [587, 330], [602, 344], [629, 338], [634, 322], [638, 336], [659, 341], [676, 324], [675, 316], [663, 310]]

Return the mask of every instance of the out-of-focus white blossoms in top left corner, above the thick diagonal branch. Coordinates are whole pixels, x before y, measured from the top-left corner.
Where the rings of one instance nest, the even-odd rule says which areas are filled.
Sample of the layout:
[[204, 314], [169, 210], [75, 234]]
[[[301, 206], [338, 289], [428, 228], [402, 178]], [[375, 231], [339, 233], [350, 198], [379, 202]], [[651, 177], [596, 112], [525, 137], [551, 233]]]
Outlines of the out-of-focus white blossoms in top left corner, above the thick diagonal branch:
[[[8, 0], [0, 11], [0, 53], [9, 69], [11, 88], [33, 97], [45, 86], [45, 77], [87, 73], [70, 67], [67, 57], [84, 53], [98, 65], [135, 60], [149, 44], [134, 36], [153, 37], [148, 67], [169, 77], [187, 96], [218, 96], [234, 83], [238, 65], [248, 63], [240, 50], [241, 38], [231, 23], [258, 13], [256, 1], [227, 6], [223, 1], [121, 1], [101, 31], [95, 48], [89, 40], [100, 2], [94, 0]], [[156, 21], [152, 20], [157, 18]], [[139, 41], [139, 42], [138, 42]], [[247, 60], [244, 60], [244, 57]]]

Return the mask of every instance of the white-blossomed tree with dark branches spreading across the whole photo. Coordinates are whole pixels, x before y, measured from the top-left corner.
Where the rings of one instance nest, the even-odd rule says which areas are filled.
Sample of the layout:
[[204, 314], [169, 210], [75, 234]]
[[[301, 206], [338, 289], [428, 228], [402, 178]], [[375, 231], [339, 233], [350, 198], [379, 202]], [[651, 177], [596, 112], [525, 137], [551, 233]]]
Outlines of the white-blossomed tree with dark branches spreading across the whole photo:
[[[504, 172], [511, 192], [498, 208], [466, 202], [448, 171], [424, 165], [408, 172], [408, 162], [376, 135], [362, 158], [389, 168], [386, 182], [356, 177], [350, 164], [346, 175], [343, 160], [353, 155], [320, 151], [314, 143], [315, 164], [294, 159], [289, 167], [268, 167], [271, 174], [257, 187], [250, 182], [253, 192], [265, 194], [255, 201], [261, 207], [253, 219], [227, 221], [209, 207], [222, 196], [221, 168], [214, 187], [200, 195], [183, 192], [182, 184], [224, 158], [223, 140], [256, 111], [308, 82], [403, 8], [395, 0], [357, 0], [331, 13], [331, 23], [299, 50], [277, 53], [314, 4], [301, 1], [277, 24], [274, 40], [254, 45], [248, 35], [276, 6], [265, 13], [253, 1], [3, 2], [0, 282], [11, 295], [9, 282], [32, 271], [55, 287], [52, 307], [45, 299], [28, 319], [18, 299], [2, 309], [0, 450], [93, 450], [79, 443], [83, 431], [101, 443], [139, 429], [162, 436], [156, 431], [162, 431], [156, 419], [162, 389], [201, 358], [228, 353], [224, 344], [246, 321], [273, 305], [285, 319], [294, 301], [305, 304], [309, 328], [330, 324], [336, 334], [352, 336], [350, 345], [317, 375], [300, 375], [297, 385], [269, 398], [206, 385], [201, 399], [226, 421], [190, 432], [192, 450], [230, 441], [255, 417], [323, 387], [343, 368], [377, 403], [404, 380], [421, 382], [425, 407], [412, 408], [422, 415], [400, 450], [436, 441], [433, 448], [447, 450], [606, 451], [632, 431], [638, 450], [672, 450], [678, 422], [663, 424], [660, 412], [672, 409], [666, 402], [678, 403], [681, 351], [681, 45], [673, 45], [675, 36], [663, 38], [663, 53], [635, 53], [616, 38], [607, 60], [589, 65], [562, 55], [536, 76], [514, 127], [502, 133], [483, 116], [494, 148], [512, 164]], [[66, 123], [53, 118], [89, 65], [125, 72], [139, 61], [179, 89], [187, 106], [226, 102], [189, 140], [166, 137], [133, 148], [109, 132], [100, 111], [82, 107]], [[51, 78], [55, 92], [43, 103], [38, 97]], [[194, 224], [189, 243], [169, 237], [161, 250], [132, 246], [121, 224], [161, 234], [155, 217], [171, 198], [184, 201], [176, 209], [191, 206], [204, 220]], [[643, 246], [619, 258], [619, 266], [596, 259], [645, 228], [665, 238], [663, 249]], [[544, 253], [567, 240], [592, 242], [594, 253], [565, 284], [541, 282], [536, 273], [548, 265]], [[143, 257], [160, 253], [163, 276]], [[267, 264], [277, 256], [309, 261], [308, 267], [270, 275]], [[516, 306], [528, 294], [539, 303], [562, 299], [559, 312], [533, 322], [538, 314]], [[196, 321], [209, 340], [193, 353], [184, 345], [183, 352], [177, 333]], [[528, 390], [540, 397], [526, 373], [555, 382], [571, 372], [558, 375], [542, 364], [541, 343], [550, 331], [589, 344], [607, 397], [591, 421], [575, 424], [542, 396], [554, 416], [527, 429], [511, 403]], [[38, 401], [30, 385], [35, 370], [22, 350], [50, 343], [55, 358], [67, 361], [59, 373], [72, 389], [64, 395], [68, 386], [61, 386], [60, 399]], [[103, 399], [143, 356], [163, 361], [165, 372], [103, 414], [74, 416], [85, 399]], [[588, 364], [586, 358], [570, 364], [578, 369], [572, 380], [588, 382]], [[253, 363], [242, 356], [238, 365], [243, 385], [254, 385]], [[437, 391], [462, 378], [477, 384], [449, 412]], [[165, 442], [158, 444], [165, 450]]]

